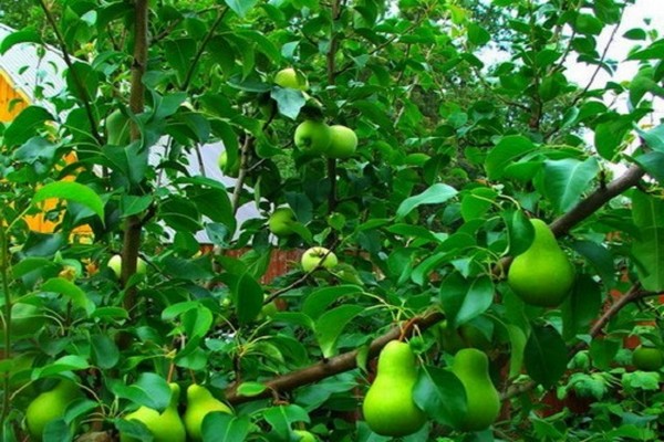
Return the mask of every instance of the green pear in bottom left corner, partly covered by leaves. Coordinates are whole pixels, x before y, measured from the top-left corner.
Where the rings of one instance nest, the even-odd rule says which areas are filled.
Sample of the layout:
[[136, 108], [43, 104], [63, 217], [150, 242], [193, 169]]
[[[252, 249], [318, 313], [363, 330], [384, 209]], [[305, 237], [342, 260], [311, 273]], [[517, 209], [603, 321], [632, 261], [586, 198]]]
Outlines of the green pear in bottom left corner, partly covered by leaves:
[[41, 441], [46, 424], [62, 418], [69, 404], [80, 397], [79, 386], [66, 379], [60, 381], [54, 389], [34, 398], [25, 410], [25, 423], [31, 440]]

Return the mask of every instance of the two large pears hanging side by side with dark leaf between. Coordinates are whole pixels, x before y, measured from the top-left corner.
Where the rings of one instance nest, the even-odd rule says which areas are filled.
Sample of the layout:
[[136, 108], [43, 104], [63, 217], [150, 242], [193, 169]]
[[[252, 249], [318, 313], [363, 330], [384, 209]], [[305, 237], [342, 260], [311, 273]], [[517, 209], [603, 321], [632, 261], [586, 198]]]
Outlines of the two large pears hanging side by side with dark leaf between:
[[[459, 430], [488, 428], [498, 417], [500, 398], [489, 377], [487, 355], [476, 348], [461, 349], [454, 357], [452, 372], [464, 386], [467, 399]], [[411, 346], [390, 341], [378, 356], [376, 378], [362, 404], [364, 419], [373, 432], [398, 438], [422, 429], [426, 414], [413, 398], [416, 381], [416, 358]]]

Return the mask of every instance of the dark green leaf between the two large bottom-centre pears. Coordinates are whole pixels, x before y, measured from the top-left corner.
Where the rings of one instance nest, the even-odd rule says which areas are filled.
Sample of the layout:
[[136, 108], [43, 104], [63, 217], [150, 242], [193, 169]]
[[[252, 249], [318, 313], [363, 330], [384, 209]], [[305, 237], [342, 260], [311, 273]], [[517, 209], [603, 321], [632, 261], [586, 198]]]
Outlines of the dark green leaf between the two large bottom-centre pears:
[[458, 428], [466, 414], [466, 389], [448, 370], [424, 366], [413, 388], [413, 399], [429, 418]]

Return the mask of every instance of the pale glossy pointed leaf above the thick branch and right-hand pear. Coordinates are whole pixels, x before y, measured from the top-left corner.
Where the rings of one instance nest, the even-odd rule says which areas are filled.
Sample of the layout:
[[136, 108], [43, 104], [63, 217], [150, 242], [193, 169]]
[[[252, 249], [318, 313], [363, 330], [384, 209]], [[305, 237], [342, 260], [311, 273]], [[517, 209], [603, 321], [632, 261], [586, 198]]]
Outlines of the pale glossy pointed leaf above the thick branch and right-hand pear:
[[544, 194], [558, 212], [567, 212], [581, 200], [599, 170], [594, 157], [585, 161], [573, 158], [544, 161]]

